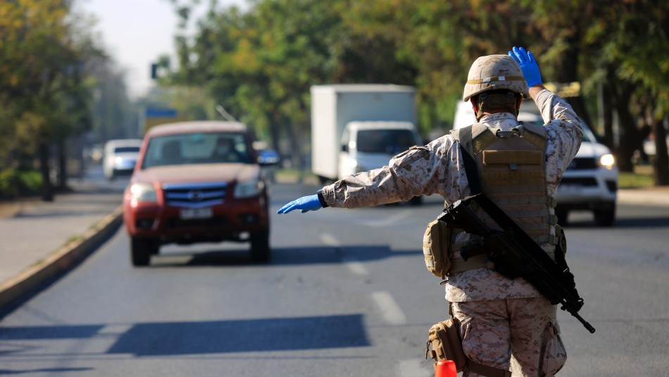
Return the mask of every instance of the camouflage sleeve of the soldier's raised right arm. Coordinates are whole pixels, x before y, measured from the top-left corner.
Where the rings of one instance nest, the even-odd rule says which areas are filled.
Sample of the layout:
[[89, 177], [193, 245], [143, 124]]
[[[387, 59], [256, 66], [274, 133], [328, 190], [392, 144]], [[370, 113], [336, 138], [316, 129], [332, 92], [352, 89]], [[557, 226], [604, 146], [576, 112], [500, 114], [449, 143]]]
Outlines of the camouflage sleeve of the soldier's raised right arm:
[[548, 89], [537, 95], [537, 107], [546, 123], [548, 183], [556, 187], [583, 140], [581, 120], [567, 101]]

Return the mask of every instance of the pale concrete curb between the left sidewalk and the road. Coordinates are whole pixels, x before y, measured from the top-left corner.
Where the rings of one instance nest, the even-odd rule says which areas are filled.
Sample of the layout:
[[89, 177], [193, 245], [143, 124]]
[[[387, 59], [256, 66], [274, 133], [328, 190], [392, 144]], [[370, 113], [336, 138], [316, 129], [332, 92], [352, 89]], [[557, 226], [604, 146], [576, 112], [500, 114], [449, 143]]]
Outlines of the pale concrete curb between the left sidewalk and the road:
[[111, 214], [86, 230], [80, 239], [68, 242], [27, 270], [0, 284], [0, 308], [37, 288], [46, 280], [68, 271], [113, 235], [122, 222], [123, 206], [118, 206]]

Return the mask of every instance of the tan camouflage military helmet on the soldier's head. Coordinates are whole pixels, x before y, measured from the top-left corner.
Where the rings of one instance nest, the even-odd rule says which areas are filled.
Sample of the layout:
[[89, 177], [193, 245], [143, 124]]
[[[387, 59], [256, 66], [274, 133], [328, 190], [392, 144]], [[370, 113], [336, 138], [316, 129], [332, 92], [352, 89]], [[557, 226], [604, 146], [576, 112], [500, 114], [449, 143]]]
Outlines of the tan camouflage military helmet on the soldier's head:
[[530, 98], [527, 82], [518, 62], [508, 55], [488, 55], [477, 58], [467, 76], [463, 101], [469, 101], [476, 94], [494, 89], [508, 89]]

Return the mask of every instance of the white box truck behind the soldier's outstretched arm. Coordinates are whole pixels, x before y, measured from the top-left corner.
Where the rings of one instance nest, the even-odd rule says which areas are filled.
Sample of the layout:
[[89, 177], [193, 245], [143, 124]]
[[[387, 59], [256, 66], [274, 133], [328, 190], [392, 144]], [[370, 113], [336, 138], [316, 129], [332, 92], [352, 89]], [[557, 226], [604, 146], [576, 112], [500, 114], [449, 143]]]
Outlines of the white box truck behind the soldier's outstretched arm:
[[380, 168], [418, 144], [414, 87], [311, 87], [311, 168], [321, 183]]

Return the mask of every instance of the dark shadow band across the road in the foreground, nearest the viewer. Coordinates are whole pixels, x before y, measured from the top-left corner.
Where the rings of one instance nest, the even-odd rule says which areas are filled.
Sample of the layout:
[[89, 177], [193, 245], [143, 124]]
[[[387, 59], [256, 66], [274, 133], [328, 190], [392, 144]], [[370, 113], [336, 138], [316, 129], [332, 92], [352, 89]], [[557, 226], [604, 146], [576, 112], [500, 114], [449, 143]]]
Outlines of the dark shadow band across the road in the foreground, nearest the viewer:
[[[343, 314], [122, 324], [127, 329], [114, 335], [117, 338], [105, 353], [164, 356], [368, 347], [370, 341], [363, 319], [363, 314]], [[108, 325], [119, 324], [6, 327], [0, 328], [0, 338], [10, 341], [109, 338], [104, 332]], [[10, 355], [20, 356], [23, 351], [31, 352], [30, 347], [0, 352], [0, 361]]]

